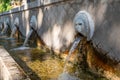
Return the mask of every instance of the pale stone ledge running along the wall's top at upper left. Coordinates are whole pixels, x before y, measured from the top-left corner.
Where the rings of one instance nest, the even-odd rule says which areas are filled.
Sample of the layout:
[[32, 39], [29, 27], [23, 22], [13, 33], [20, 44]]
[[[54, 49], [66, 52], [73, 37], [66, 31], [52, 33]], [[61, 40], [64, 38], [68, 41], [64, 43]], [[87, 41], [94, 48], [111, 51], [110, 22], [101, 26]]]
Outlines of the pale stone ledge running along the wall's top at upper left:
[[24, 10], [29, 10], [29, 9], [32, 9], [32, 8], [47, 6], [47, 5], [50, 5], [50, 4], [55, 4], [55, 3], [59, 3], [59, 2], [65, 2], [65, 1], [70, 1], [70, 0], [52, 0], [52, 1], [50, 1], [50, 0], [37, 0], [37, 1], [34, 1], [34, 2], [26, 3], [25, 5], [22, 5], [20, 7], [13, 8], [9, 11], [0, 13], [0, 16], [9, 15], [9, 14], [12, 14], [12, 13], [17, 13], [17, 12], [21, 12], [21, 11], [24, 11]]

